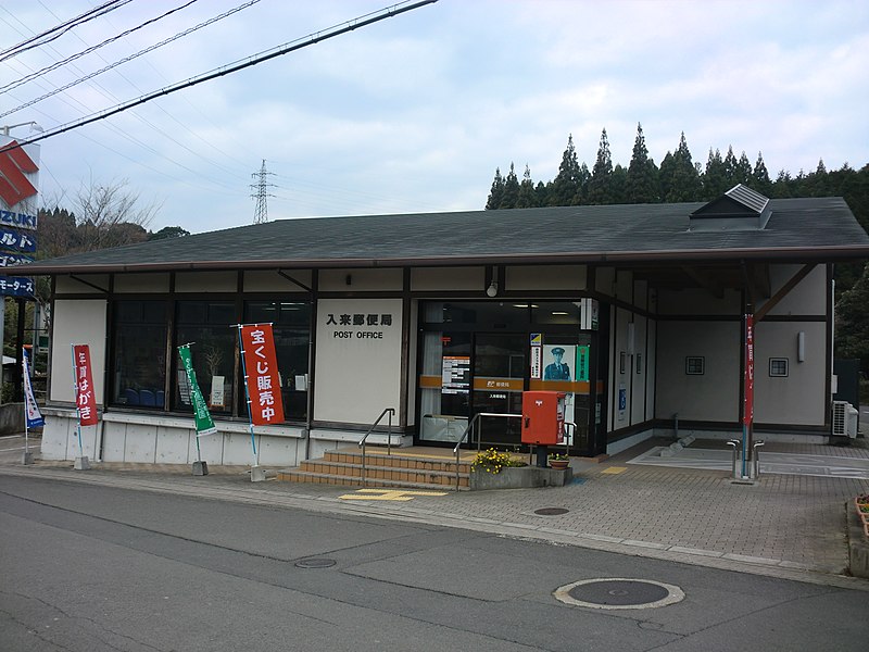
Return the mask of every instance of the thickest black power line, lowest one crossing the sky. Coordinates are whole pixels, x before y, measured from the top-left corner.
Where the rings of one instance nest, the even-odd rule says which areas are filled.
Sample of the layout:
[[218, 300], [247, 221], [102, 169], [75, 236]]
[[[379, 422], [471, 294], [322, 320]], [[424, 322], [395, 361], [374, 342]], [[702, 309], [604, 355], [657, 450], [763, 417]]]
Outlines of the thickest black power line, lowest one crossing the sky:
[[[181, 83], [168, 86], [166, 88], [161, 88], [160, 90], [150, 92], [150, 93], [148, 93], [146, 96], [142, 96], [140, 98], [137, 98], [135, 100], [130, 100], [128, 102], [124, 102], [123, 104], [118, 104], [116, 106], [113, 106], [112, 109], [106, 109], [104, 111], [101, 111], [99, 113], [89, 115], [89, 116], [84, 117], [81, 120], [78, 120], [78, 121], [75, 121], [75, 122], [72, 122], [72, 123], [67, 123], [65, 125], [61, 125], [61, 126], [55, 127], [53, 129], [48, 129], [48, 130], [43, 131], [40, 136], [35, 136], [35, 137], [30, 137], [30, 138], [22, 140], [21, 142], [17, 143], [17, 146], [30, 145], [33, 142], [39, 142], [40, 140], [45, 140], [47, 138], [51, 138], [52, 136], [58, 136], [59, 134], [64, 134], [65, 131], [70, 131], [72, 129], [77, 129], [78, 127], [83, 127], [83, 126], [88, 125], [90, 123], [95, 123], [95, 122], [100, 121], [100, 120], [105, 120], [106, 117], [110, 117], [112, 115], [116, 115], [117, 113], [122, 113], [124, 111], [128, 111], [129, 109], [133, 109], [134, 106], [138, 106], [139, 104], [144, 104], [146, 102], [150, 102], [151, 100], [154, 100], [154, 99], [160, 98], [162, 96], [167, 96], [167, 95], [171, 95], [171, 93], [176, 92], [178, 90], [184, 90], [186, 88], [190, 88], [192, 86], [197, 86], [197, 85], [202, 84], [204, 82], [210, 82], [210, 80], [215, 79], [217, 77], [223, 77], [224, 75], [229, 75], [231, 73], [236, 73], [236, 72], [244, 70], [247, 67], [263, 63], [264, 61], [268, 61], [269, 59], [275, 59], [276, 57], [281, 57], [282, 54], [288, 54], [290, 52], [294, 52], [295, 50], [301, 50], [302, 48], [306, 48], [307, 46], [313, 46], [313, 45], [318, 43], [320, 41], [328, 40], [330, 38], [335, 38], [336, 36], [340, 36], [342, 34], [347, 34], [349, 32], [353, 32], [354, 29], [358, 29], [360, 27], [366, 27], [366, 26], [371, 25], [374, 23], [378, 23], [378, 22], [380, 22], [382, 20], [390, 18], [390, 17], [396, 16], [399, 14], [403, 14], [403, 13], [412, 11], [414, 9], [418, 9], [420, 7], [424, 7], [426, 4], [433, 4], [437, 1], [438, 0], [419, 0], [417, 2], [414, 2], [413, 4], [407, 4], [407, 2], [403, 2], [403, 3], [395, 4], [395, 5], [386, 8], [386, 9], [381, 9], [380, 11], [377, 11], [377, 12], [371, 12], [369, 14], [365, 14], [365, 15], [360, 16], [357, 18], [354, 18], [352, 21], [348, 21], [345, 23], [342, 23], [342, 24], [340, 24], [340, 25], [338, 25], [336, 27], [331, 27], [331, 28], [325, 29], [323, 32], [317, 32], [317, 33], [315, 33], [313, 35], [310, 35], [304, 40], [302, 40], [302, 42], [298, 42], [300, 39], [297, 39], [295, 41], [290, 41], [289, 43], [285, 43], [284, 46], [280, 46], [278, 48], [273, 48], [272, 50], [266, 50], [263, 53], [255, 54], [255, 55], [249, 58], [245, 61], [228, 64], [226, 66], [216, 68], [216, 70], [214, 70], [214, 71], [212, 71], [210, 73], [205, 73], [205, 74], [200, 75], [198, 77], [191, 77], [190, 79], [187, 79], [186, 82], [181, 82]], [[404, 5], [404, 7], [402, 7], [402, 5]], [[3, 146], [3, 147], [0, 147], [0, 152], [7, 151], [9, 149], [12, 149], [12, 147], [13, 147], [12, 143]]]

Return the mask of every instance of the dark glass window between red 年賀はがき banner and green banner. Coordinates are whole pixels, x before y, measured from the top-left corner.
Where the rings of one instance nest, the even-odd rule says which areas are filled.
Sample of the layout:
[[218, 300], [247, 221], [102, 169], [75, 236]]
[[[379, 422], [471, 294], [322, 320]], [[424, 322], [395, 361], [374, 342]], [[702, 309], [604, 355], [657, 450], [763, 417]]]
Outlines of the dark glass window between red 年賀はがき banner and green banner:
[[166, 386], [166, 302], [115, 301], [112, 403], [162, 410]]

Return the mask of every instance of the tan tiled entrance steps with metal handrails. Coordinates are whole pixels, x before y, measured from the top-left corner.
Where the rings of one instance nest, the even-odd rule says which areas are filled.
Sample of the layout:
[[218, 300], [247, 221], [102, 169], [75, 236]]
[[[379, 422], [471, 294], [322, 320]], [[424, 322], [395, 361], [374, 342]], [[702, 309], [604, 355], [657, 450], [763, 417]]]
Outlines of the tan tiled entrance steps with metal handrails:
[[[399, 487], [425, 490], [455, 490], [455, 459], [412, 453], [387, 454], [370, 449], [365, 455], [365, 479], [362, 475], [362, 451], [327, 451], [319, 460], [306, 460], [298, 468], [279, 471], [285, 482], [347, 485], [351, 487]], [[467, 490], [470, 461], [459, 461], [458, 489]]]

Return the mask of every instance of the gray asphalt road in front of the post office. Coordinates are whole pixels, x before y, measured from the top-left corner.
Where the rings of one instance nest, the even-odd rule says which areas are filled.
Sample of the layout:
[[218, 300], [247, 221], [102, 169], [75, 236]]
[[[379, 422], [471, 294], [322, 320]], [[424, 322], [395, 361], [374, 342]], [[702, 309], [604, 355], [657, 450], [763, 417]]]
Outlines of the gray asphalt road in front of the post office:
[[[0, 475], [0, 531], [3, 652], [864, 652], [869, 637], [864, 591], [433, 525]], [[593, 578], [684, 599], [553, 597]]]

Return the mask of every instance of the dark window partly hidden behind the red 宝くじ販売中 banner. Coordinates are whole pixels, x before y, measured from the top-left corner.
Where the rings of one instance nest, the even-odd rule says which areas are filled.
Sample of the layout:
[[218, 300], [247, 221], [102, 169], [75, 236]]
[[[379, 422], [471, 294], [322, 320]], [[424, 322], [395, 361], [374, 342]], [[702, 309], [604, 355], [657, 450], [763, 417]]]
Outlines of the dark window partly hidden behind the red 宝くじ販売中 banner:
[[[280, 374], [280, 394], [287, 421], [307, 417], [307, 368], [311, 304], [301, 301], [248, 301], [245, 324], [272, 324]], [[240, 392], [244, 401], [244, 392]], [[242, 402], [240, 414], [247, 414]]]

